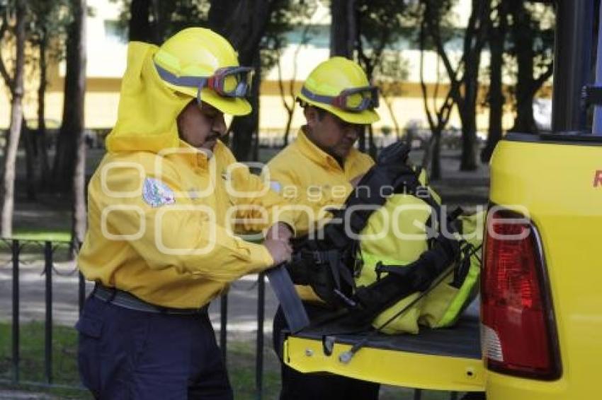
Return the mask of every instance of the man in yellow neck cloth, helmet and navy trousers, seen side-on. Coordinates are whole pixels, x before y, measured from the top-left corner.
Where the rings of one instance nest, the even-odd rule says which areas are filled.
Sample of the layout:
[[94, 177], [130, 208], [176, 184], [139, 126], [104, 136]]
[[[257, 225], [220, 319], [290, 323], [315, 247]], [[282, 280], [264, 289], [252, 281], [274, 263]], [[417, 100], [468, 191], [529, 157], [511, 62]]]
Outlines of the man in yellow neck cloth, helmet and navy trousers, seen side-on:
[[233, 398], [208, 304], [229, 282], [289, 259], [297, 219], [276, 213], [283, 199], [218, 140], [224, 113], [251, 111], [250, 74], [202, 28], [128, 47], [79, 254], [96, 283], [76, 324], [79, 370], [97, 399]]

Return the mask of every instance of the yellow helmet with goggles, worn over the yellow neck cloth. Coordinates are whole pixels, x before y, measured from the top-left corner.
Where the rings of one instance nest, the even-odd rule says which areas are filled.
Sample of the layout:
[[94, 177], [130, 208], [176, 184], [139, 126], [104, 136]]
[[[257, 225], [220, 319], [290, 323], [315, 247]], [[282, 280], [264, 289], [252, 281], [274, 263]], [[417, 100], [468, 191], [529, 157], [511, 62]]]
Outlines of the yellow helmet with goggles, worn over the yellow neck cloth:
[[239, 66], [232, 45], [212, 30], [187, 28], [176, 33], [154, 55], [154, 66], [163, 83], [179, 93], [225, 114], [251, 112], [245, 97], [253, 69]]

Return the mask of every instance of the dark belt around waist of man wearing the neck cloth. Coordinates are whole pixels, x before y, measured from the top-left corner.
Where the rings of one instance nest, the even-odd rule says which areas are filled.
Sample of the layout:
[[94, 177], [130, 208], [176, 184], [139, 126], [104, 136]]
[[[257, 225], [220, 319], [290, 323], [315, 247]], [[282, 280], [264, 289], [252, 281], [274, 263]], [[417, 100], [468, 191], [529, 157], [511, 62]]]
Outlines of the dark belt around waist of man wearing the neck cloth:
[[104, 302], [108, 302], [118, 307], [127, 308], [129, 310], [152, 312], [154, 314], [173, 314], [173, 315], [195, 315], [208, 314], [209, 305], [203, 305], [200, 308], [171, 308], [154, 305], [144, 300], [140, 300], [135, 295], [127, 293], [124, 290], [116, 288], [107, 288], [98, 283], [94, 286], [92, 295]]

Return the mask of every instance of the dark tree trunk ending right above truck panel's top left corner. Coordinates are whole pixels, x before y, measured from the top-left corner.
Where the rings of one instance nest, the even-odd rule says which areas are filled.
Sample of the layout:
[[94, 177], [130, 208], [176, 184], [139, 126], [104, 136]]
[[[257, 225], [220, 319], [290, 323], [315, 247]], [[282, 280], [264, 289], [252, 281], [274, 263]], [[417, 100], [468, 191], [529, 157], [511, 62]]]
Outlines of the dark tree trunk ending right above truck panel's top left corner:
[[494, 148], [501, 139], [502, 117], [504, 116], [504, 93], [502, 82], [502, 66], [504, 66], [504, 43], [506, 42], [506, 28], [508, 25], [508, 11], [504, 1], [498, 6], [498, 25], [492, 27], [489, 38], [491, 49], [491, 65], [489, 78], [489, 132], [487, 146], [481, 151], [481, 162], [489, 163]]

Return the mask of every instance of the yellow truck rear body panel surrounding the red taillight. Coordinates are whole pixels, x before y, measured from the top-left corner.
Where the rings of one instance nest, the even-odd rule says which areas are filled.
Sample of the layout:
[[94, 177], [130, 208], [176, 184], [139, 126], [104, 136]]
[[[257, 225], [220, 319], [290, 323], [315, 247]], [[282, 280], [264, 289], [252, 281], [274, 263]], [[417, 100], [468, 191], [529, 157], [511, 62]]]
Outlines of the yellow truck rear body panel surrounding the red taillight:
[[487, 398], [586, 399], [602, 368], [602, 139], [510, 134], [492, 158], [490, 201], [529, 218], [541, 238], [561, 376], [489, 373]]

